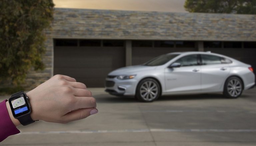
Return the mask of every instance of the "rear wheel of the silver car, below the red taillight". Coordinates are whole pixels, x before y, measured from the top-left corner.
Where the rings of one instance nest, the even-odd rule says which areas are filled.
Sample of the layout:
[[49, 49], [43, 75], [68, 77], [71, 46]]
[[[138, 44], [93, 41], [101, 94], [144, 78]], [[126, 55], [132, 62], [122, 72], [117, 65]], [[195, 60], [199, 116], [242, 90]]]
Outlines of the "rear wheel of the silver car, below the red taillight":
[[228, 98], [237, 98], [243, 92], [243, 83], [240, 78], [232, 76], [229, 77], [224, 86], [224, 95]]

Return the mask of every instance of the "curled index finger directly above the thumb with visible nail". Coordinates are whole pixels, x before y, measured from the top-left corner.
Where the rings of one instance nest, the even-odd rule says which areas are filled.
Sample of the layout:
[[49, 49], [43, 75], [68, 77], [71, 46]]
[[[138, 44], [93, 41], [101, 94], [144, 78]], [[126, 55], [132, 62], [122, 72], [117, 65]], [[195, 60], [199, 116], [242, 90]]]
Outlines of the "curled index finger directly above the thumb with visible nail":
[[93, 97], [75, 97], [76, 102], [72, 106], [72, 110], [79, 108], [96, 108], [96, 99]]

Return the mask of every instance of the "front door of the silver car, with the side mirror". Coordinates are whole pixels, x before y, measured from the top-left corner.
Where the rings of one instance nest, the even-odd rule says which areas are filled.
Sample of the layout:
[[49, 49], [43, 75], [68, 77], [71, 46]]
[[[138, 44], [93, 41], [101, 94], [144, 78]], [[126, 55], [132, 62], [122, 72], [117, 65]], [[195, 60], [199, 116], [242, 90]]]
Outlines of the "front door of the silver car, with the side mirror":
[[197, 54], [184, 56], [174, 63], [180, 67], [165, 68], [165, 87], [167, 93], [200, 91], [201, 68]]

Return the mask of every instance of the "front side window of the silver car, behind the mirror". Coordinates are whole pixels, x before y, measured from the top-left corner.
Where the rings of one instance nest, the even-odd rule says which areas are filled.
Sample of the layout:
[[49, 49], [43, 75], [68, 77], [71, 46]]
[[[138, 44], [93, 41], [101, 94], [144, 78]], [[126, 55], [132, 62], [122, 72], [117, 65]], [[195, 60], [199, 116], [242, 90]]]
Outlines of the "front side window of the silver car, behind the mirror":
[[188, 55], [178, 59], [175, 63], [180, 63], [181, 67], [197, 66], [197, 55]]

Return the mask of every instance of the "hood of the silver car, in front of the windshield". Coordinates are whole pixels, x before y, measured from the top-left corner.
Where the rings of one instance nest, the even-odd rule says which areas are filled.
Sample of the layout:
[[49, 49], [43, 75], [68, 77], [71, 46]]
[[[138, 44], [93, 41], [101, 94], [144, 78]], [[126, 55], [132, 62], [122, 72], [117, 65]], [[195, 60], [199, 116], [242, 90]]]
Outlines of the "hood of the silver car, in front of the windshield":
[[124, 67], [120, 69], [116, 69], [112, 72], [109, 73], [109, 75], [130, 75], [131, 73], [136, 73], [140, 71], [148, 71], [148, 70], [154, 70], [156, 67], [151, 67], [151, 66], [129, 66], [129, 67]]

